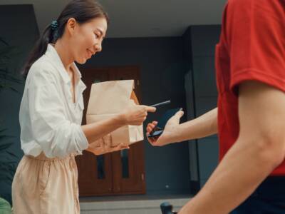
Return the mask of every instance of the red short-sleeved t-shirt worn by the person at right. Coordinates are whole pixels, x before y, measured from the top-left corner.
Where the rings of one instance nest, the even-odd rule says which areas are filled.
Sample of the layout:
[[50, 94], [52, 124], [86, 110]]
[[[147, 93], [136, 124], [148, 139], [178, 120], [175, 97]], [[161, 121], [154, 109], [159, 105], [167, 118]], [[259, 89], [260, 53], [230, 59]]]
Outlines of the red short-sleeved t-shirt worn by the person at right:
[[[222, 159], [239, 135], [239, 83], [261, 81], [285, 91], [285, 1], [229, 0], [215, 56]], [[271, 175], [285, 175], [285, 162]]]

